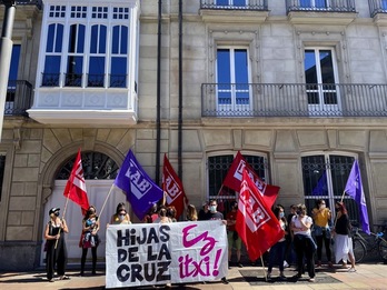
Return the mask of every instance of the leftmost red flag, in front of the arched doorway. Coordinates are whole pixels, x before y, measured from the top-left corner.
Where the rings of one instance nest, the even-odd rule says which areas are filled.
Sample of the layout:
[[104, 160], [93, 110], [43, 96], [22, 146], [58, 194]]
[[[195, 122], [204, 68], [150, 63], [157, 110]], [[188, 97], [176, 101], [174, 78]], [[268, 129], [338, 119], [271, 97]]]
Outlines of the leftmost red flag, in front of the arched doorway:
[[79, 204], [83, 214], [89, 209], [89, 199], [86, 192], [80, 149], [78, 150], [76, 162], [73, 163], [69, 180], [67, 181], [63, 196]]

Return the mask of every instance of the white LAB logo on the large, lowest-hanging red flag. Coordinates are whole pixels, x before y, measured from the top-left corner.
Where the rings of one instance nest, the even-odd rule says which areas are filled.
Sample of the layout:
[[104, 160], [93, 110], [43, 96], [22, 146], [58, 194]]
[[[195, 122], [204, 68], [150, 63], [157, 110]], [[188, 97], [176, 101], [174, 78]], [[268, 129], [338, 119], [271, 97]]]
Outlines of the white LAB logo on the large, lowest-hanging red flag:
[[251, 232], [256, 232], [270, 220], [269, 213], [266, 211], [264, 204], [261, 204], [251, 192], [246, 180], [241, 183], [238, 208], [245, 209], [241, 212], [244, 212], [246, 224]]

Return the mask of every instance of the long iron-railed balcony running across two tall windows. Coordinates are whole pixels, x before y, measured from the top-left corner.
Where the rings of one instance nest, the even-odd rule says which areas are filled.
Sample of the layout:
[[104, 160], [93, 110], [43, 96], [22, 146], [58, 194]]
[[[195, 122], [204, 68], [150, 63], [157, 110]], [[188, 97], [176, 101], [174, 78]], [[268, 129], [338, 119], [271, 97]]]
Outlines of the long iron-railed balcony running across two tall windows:
[[204, 83], [202, 117], [387, 117], [387, 84]]

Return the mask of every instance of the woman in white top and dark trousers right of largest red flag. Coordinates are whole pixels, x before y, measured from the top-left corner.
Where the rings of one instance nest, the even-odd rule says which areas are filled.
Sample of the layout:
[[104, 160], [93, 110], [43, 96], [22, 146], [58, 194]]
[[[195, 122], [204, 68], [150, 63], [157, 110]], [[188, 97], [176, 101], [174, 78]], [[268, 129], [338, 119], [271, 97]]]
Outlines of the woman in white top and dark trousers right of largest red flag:
[[298, 204], [295, 217], [291, 219], [291, 230], [294, 232], [295, 250], [297, 254], [297, 271], [296, 278], [301, 278], [304, 272], [304, 258], [307, 263], [309, 282], [315, 282], [315, 259], [316, 251], [315, 241], [311, 238], [310, 228], [312, 219], [307, 216], [305, 204]]

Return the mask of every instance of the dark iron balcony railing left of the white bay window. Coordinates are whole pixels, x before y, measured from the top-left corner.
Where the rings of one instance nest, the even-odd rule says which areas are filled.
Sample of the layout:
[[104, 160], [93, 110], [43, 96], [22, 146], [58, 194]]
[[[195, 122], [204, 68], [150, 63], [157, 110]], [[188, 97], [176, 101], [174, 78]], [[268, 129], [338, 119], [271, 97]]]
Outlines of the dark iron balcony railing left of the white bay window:
[[8, 81], [4, 114], [28, 116], [32, 104], [32, 84], [26, 80]]

